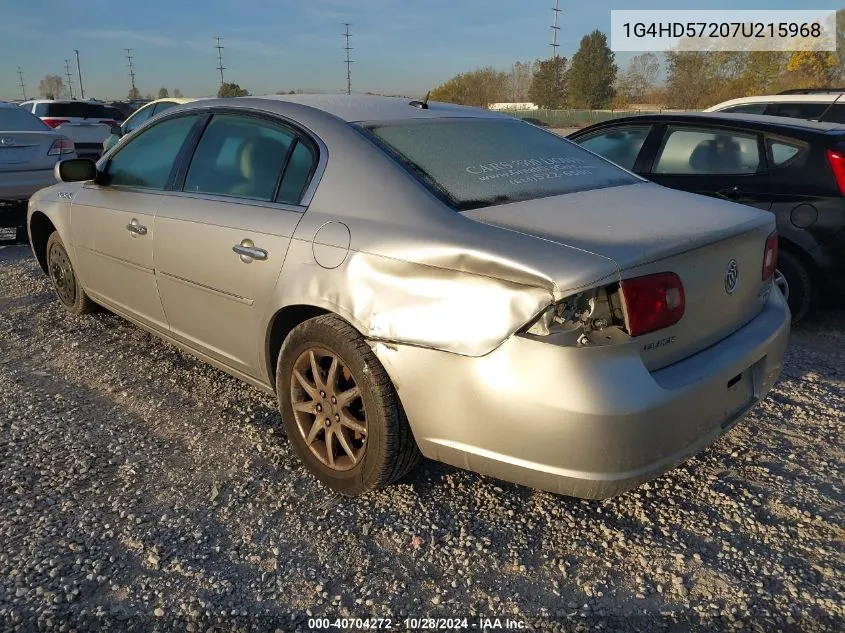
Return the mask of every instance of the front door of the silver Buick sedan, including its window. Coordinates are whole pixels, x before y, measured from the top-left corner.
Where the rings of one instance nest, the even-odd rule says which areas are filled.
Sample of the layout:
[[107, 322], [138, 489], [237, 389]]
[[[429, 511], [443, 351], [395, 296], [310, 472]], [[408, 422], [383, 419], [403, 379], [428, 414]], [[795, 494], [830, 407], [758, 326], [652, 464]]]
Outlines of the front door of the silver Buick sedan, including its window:
[[170, 118], [130, 140], [71, 204], [79, 274], [92, 297], [151, 327], [167, 329], [153, 270], [155, 213], [179, 151], [200, 115]]

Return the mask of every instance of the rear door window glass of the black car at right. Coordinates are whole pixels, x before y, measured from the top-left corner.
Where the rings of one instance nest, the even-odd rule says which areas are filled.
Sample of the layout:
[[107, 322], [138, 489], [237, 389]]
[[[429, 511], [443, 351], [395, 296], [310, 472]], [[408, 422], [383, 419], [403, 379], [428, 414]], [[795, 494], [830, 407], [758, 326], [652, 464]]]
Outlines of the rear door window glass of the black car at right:
[[760, 167], [755, 134], [669, 128], [652, 170], [655, 174], [753, 174]]

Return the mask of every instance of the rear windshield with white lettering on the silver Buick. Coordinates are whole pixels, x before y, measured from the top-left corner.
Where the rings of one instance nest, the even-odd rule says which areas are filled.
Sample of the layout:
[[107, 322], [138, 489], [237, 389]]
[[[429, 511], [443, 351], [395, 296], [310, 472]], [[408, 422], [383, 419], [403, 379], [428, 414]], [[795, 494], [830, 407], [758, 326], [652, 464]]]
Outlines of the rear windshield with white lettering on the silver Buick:
[[420, 119], [364, 129], [458, 210], [638, 182], [557, 134], [522, 121]]

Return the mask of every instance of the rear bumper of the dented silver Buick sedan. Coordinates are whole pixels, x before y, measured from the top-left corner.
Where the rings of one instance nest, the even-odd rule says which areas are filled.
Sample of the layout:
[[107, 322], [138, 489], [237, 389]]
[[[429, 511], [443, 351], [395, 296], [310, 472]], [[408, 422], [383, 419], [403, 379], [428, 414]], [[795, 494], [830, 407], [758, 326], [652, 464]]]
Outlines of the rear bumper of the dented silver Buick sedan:
[[709, 445], [780, 374], [789, 310], [649, 372], [637, 344], [557, 347], [513, 336], [480, 358], [375, 343], [426, 457], [583, 498], [653, 479]]

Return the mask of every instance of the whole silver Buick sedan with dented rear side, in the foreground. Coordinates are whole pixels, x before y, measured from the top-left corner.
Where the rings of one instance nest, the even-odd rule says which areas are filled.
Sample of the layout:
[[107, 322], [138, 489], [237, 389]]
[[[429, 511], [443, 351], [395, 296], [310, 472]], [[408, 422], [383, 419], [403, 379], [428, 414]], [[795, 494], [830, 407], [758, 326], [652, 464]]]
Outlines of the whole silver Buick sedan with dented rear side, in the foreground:
[[771, 214], [485, 110], [205, 100], [29, 204], [59, 300], [278, 397], [321, 481], [420, 454], [586, 498], [702, 450], [781, 370]]

